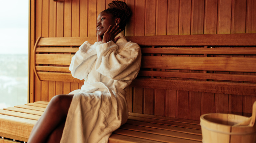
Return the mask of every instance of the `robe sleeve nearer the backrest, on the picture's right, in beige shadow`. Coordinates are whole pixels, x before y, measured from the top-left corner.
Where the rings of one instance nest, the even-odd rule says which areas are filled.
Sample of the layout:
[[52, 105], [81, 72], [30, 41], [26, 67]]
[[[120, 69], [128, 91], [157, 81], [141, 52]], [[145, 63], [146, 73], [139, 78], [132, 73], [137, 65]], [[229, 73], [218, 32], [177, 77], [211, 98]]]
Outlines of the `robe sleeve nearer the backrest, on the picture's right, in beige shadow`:
[[133, 80], [140, 68], [140, 47], [126, 42], [119, 48], [113, 41], [97, 45], [96, 71], [114, 80]]

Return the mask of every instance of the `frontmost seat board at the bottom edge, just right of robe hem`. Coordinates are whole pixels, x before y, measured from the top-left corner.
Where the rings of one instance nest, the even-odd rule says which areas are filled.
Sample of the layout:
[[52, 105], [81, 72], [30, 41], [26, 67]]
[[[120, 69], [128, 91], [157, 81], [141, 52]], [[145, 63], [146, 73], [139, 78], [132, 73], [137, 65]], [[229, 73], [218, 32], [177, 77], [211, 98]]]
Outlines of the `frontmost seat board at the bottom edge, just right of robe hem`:
[[109, 143], [160, 143], [158, 141], [138, 138], [138, 137], [132, 137], [132, 136], [126, 136], [126, 135], [118, 135], [118, 134], [112, 134], [109, 139]]

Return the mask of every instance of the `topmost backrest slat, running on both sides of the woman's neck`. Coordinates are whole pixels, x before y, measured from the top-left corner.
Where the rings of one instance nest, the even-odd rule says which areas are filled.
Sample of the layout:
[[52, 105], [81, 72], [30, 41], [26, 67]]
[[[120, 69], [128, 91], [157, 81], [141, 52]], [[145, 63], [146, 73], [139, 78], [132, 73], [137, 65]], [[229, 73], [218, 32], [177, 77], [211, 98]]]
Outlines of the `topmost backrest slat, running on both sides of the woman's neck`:
[[[126, 36], [128, 41], [141, 46], [253, 46], [255, 33], [241, 34], [198, 34], [198, 35], [160, 35], [160, 36]], [[80, 46], [85, 41], [93, 44], [96, 37], [54, 37], [41, 38], [38, 46]], [[170, 44], [171, 43], [171, 44]]]

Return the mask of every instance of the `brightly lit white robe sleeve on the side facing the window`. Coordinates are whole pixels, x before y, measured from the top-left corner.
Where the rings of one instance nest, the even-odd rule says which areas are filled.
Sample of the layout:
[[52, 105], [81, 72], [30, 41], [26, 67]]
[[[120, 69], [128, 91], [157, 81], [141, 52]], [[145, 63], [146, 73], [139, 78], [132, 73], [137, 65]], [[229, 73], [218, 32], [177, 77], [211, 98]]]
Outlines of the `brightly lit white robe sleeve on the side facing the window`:
[[72, 57], [69, 66], [69, 70], [73, 77], [80, 80], [87, 77], [97, 58], [95, 46], [99, 44], [102, 44], [102, 42], [95, 42], [94, 45], [91, 45], [86, 41], [79, 47], [79, 50]]

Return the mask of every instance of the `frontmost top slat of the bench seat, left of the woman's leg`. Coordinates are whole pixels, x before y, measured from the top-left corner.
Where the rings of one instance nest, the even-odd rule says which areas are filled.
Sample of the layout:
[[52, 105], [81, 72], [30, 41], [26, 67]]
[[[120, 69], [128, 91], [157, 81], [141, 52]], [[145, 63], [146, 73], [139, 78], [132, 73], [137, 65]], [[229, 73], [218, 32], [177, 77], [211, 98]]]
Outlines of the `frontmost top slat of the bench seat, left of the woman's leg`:
[[13, 116], [13, 117], [20, 117], [20, 118], [24, 118], [24, 119], [32, 119], [32, 120], [38, 120], [40, 118], [40, 116], [38, 116], [38, 115], [32, 115], [32, 114], [9, 111], [9, 110], [0, 110], [0, 114], [7, 115], [7, 116]]

